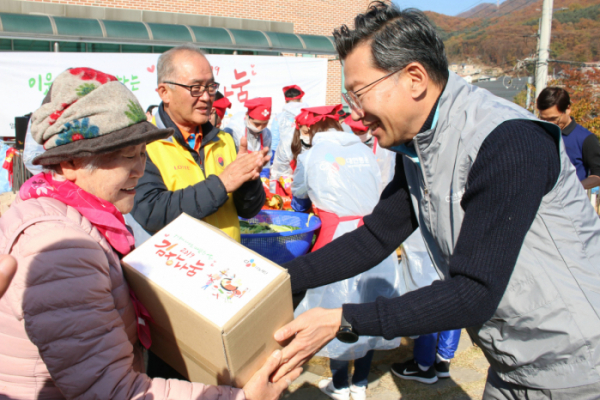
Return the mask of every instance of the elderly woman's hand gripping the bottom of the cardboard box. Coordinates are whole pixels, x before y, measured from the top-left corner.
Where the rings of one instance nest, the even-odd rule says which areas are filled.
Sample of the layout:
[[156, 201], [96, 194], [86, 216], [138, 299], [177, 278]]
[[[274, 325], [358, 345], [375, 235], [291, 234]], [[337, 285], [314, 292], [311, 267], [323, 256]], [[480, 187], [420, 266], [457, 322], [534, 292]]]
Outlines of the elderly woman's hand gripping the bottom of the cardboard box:
[[281, 363], [281, 351], [276, 350], [271, 357], [267, 359], [265, 365], [259, 369], [254, 376], [244, 386], [244, 394], [247, 400], [275, 400], [278, 399], [284, 390], [286, 390], [292, 381], [294, 381], [302, 368], [296, 368], [290, 373], [283, 375], [279, 382], [270, 382], [269, 377], [279, 367]]

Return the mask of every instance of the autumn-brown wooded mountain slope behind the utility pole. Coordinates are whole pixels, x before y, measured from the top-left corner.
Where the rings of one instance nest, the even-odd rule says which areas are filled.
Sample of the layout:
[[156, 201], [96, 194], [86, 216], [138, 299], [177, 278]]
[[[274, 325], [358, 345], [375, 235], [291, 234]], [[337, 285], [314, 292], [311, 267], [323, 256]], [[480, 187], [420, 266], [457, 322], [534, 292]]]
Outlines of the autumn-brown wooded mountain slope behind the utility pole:
[[[507, 0], [499, 8], [469, 10], [468, 18], [426, 14], [444, 38], [450, 62], [477, 59], [509, 68], [535, 53], [541, 7], [541, 0]], [[568, 10], [556, 12], [552, 21], [550, 57], [599, 61], [600, 0], [555, 0], [554, 9], [563, 7]]]

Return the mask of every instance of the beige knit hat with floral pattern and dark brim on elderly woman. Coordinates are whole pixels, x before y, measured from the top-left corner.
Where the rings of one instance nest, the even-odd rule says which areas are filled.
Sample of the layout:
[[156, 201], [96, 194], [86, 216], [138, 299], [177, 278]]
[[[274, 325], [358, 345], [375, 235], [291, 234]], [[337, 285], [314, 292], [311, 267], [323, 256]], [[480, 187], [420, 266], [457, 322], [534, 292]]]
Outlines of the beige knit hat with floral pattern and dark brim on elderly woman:
[[147, 122], [135, 95], [117, 78], [91, 68], [61, 73], [49, 95], [31, 116], [31, 135], [46, 150], [34, 165], [110, 153], [173, 134]]

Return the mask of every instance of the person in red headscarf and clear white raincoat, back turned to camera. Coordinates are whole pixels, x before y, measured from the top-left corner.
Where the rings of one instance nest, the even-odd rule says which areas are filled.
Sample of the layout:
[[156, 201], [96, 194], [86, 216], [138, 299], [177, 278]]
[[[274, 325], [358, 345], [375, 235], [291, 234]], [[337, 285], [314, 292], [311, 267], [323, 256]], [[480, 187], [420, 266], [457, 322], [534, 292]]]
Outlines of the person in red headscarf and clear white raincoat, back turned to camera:
[[[311, 147], [297, 156], [293, 204], [303, 203], [305, 209], [310, 202], [319, 211], [322, 226], [313, 251], [360, 226], [362, 217], [377, 204], [383, 188], [372, 151], [355, 135], [342, 130], [337, 115], [340, 108], [341, 105], [307, 108], [299, 118], [302, 127], [308, 128]], [[299, 316], [314, 307], [340, 307], [348, 301], [361, 303], [379, 296], [398, 296], [400, 273], [394, 252], [368, 272], [308, 290], [294, 314]], [[332, 378], [319, 382], [319, 388], [337, 400], [350, 396], [353, 400], [366, 399], [373, 350], [399, 345], [399, 339], [365, 337], [354, 343], [334, 340], [318, 353], [330, 358], [332, 374]], [[354, 373], [349, 380], [351, 360]]]

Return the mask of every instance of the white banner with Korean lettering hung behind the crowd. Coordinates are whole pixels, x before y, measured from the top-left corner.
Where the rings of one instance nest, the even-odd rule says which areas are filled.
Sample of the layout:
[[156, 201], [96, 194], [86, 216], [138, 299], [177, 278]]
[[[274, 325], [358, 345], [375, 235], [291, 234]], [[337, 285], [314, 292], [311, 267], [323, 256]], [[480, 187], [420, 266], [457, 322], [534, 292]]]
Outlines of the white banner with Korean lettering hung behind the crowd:
[[[159, 104], [156, 63], [160, 54], [4, 52], [0, 57], [0, 136], [14, 136], [14, 118], [35, 111], [56, 76], [67, 68], [90, 67], [116, 76], [142, 107]], [[285, 104], [282, 88], [300, 86], [311, 106], [325, 104], [327, 60], [306, 57], [207, 55], [219, 91], [232, 103], [228, 116], [245, 111], [243, 103], [271, 97], [273, 113]], [[186, 82], [178, 82], [186, 83]]]

